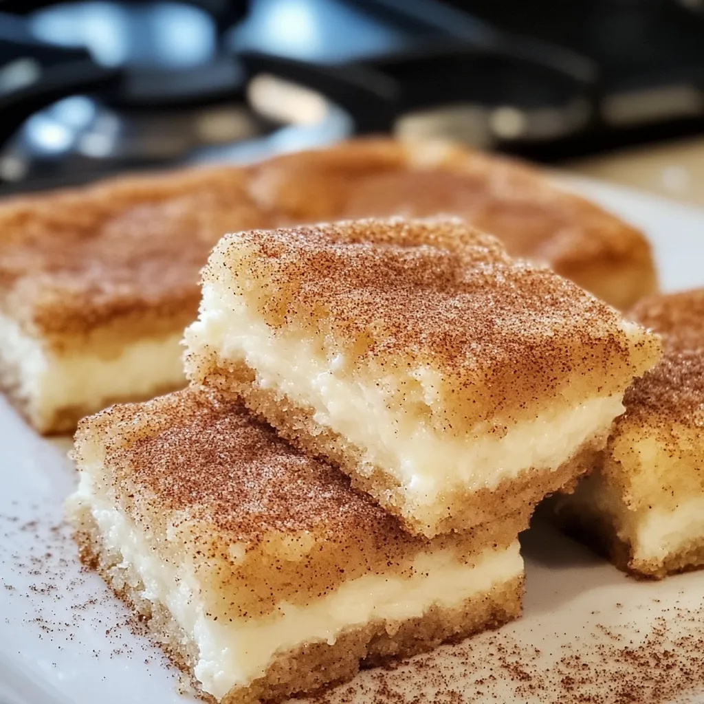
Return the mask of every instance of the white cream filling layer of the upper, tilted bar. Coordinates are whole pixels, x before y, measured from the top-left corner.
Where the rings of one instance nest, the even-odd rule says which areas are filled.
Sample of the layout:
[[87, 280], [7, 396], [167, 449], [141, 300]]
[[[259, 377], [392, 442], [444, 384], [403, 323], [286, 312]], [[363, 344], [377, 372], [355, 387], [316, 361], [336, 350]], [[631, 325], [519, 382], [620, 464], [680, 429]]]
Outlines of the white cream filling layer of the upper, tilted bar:
[[[413, 412], [390, 410], [376, 384], [355, 382], [339, 370], [339, 360], [322, 356], [301, 335], [274, 332], [241, 296], [213, 284], [203, 286], [201, 315], [187, 328], [186, 344], [196, 355], [209, 347], [225, 362], [244, 360], [263, 388], [313, 408], [316, 422], [360, 448], [370, 470], [382, 467], [392, 474], [419, 506], [458, 485], [493, 489], [530, 467], [557, 468], [584, 442], [607, 432], [624, 410], [622, 394], [593, 396], [517, 423], [501, 438], [482, 432], [443, 436]], [[413, 374], [422, 387], [418, 400], [429, 405], [433, 375], [429, 369]], [[404, 381], [408, 377], [399, 376], [384, 384], [403, 389]]]

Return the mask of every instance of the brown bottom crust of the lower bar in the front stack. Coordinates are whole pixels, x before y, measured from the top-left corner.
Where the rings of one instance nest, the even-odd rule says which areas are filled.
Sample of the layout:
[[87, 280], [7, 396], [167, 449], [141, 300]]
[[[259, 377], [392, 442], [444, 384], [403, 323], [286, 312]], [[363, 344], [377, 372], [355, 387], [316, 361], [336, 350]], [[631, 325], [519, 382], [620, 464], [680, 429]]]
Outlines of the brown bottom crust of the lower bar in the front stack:
[[[197, 659], [194, 643], [173, 620], [168, 608], [144, 596], [144, 585], [126, 566], [120, 553], [106, 550], [88, 511], [74, 517], [76, 538], [83, 562], [100, 572], [103, 579], [146, 622], [151, 636], [177, 667], [193, 677]], [[279, 701], [296, 693], [311, 693], [322, 686], [352, 679], [361, 668], [375, 667], [398, 658], [432, 650], [444, 642], [465, 639], [477, 631], [498, 628], [520, 615], [523, 578], [500, 584], [489, 593], [472, 597], [455, 608], [435, 606], [419, 618], [393, 623], [377, 620], [351, 627], [333, 645], [305, 643], [277, 655], [263, 677], [247, 688], [234, 688], [220, 704], [258, 704]], [[215, 701], [203, 692], [207, 701]]]

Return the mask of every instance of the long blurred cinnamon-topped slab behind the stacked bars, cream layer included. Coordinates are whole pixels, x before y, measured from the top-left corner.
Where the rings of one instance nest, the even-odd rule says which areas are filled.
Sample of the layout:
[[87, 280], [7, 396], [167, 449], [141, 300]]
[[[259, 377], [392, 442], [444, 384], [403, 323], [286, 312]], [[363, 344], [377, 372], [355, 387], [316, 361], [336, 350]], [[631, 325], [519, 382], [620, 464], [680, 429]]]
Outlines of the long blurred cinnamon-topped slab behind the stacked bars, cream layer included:
[[225, 232], [458, 215], [617, 308], [655, 291], [633, 227], [532, 169], [435, 143], [357, 140], [249, 168], [123, 177], [0, 205], [0, 388], [43, 433], [184, 385], [198, 272]]

